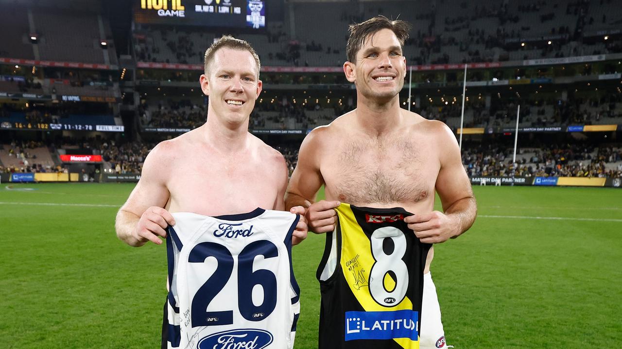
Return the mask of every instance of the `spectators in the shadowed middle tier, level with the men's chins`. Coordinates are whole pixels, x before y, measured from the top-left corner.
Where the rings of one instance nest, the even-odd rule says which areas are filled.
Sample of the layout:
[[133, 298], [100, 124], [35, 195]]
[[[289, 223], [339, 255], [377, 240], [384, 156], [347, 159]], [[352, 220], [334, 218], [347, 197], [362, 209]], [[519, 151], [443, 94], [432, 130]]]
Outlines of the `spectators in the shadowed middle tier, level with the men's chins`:
[[[449, 97], [448, 97], [449, 98]], [[447, 99], [449, 100], [449, 99]], [[511, 99], [493, 97], [486, 107], [485, 99], [473, 99], [466, 103], [465, 127], [503, 127], [513, 125], [516, 117], [516, 102]], [[462, 107], [458, 102], [447, 105], [427, 104], [415, 106], [413, 111], [427, 119], [441, 120], [455, 127], [448, 120], [459, 119]], [[427, 105], [425, 105], [427, 104]], [[329, 106], [288, 101], [276, 98], [272, 102], [258, 102], [251, 114], [250, 129], [263, 129], [266, 122], [285, 129], [287, 121], [293, 119], [302, 129], [328, 124], [335, 117], [354, 109], [352, 99], [333, 102]], [[314, 111], [318, 113], [309, 113]], [[143, 107], [139, 110], [143, 126], [184, 127], [195, 129], [205, 123], [205, 106], [185, 101], [169, 101], [157, 107]], [[529, 127], [562, 126], [572, 124], [592, 125], [606, 118], [622, 118], [622, 94], [608, 94], [601, 97], [575, 97], [569, 101], [552, 98], [524, 99], [521, 101], [521, 124]]]

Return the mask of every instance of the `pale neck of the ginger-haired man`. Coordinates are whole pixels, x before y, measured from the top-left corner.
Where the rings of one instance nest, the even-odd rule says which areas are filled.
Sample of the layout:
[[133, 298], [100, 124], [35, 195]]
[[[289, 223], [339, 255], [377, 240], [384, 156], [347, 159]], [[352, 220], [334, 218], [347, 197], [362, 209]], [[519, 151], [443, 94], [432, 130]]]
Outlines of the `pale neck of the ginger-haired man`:
[[226, 123], [218, 117], [208, 117], [202, 132], [205, 142], [221, 153], [237, 153], [248, 149], [248, 119], [240, 124]]

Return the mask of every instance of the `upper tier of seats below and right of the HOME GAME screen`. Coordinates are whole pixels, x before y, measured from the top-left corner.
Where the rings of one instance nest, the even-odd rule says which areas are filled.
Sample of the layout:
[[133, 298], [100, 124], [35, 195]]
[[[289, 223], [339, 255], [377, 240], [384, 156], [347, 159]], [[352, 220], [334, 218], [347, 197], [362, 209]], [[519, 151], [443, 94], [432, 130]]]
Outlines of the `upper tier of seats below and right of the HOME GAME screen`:
[[[597, 35], [619, 25], [613, 16], [606, 19], [615, 7], [612, 0], [445, 0], [431, 6], [392, 0], [354, 6], [348, 1], [293, 1], [291, 6], [294, 17], [269, 23], [265, 33], [237, 35], [254, 43], [264, 65], [341, 66], [348, 24], [376, 14], [414, 24], [405, 52], [409, 62], [419, 65], [599, 55], [621, 48], [619, 39], [603, 42], [603, 35]], [[294, 24], [293, 32], [283, 29], [286, 23]], [[134, 48], [139, 61], [200, 64], [214, 37], [209, 30], [142, 25]]]

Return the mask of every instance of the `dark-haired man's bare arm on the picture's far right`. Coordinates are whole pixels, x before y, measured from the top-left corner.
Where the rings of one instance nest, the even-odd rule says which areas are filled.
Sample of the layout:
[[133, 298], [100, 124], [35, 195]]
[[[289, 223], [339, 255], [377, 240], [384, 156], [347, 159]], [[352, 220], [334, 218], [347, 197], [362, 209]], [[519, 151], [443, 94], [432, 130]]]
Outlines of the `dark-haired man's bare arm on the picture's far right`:
[[456, 137], [444, 124], [438, 144], [442, 147], [439, 147], [440, 170], [435, 186], [443, 211], [453, 221], [452, 238], [456, 238], [473, 225], [477, 205], [471, 182], [462, 166]]

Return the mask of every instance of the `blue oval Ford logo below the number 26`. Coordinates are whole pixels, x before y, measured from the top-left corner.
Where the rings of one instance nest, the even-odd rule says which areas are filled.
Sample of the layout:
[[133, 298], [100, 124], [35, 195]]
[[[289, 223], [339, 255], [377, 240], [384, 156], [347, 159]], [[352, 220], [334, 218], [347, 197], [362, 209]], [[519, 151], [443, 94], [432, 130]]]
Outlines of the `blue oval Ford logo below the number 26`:
[[262, 349], [272, 343], [272, 333], [258, 329], [228, 330], [202, 338], [197, 349]]

